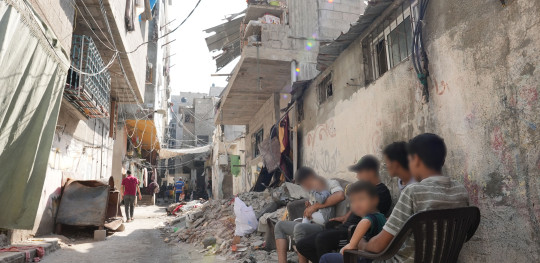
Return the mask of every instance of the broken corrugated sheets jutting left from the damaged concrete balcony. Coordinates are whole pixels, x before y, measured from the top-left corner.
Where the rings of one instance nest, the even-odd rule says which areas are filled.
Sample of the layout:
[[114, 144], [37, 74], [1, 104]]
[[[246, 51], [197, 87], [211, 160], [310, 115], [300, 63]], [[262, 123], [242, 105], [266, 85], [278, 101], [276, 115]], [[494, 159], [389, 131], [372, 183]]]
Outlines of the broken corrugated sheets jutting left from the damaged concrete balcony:
[[219, 71], [236, 57], [240, 56], [242, 50], [240, 48], [240, 24], [243, 17], [233, 19], [227, 23], [204, 30], [206, 33], [215, 32], [214, 35], [206, 38], [206, 45], [209, 51], [223, 51], [216, 60], [216, 71]]

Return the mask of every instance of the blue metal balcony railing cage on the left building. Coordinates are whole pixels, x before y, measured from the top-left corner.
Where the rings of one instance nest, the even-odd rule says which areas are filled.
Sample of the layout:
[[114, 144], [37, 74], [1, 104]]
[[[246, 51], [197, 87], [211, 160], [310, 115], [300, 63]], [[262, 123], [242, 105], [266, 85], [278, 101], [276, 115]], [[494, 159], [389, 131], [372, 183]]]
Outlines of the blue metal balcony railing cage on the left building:
[[108, 117], [111, 75], [108, 70], [99, 73], [105, 67], [105, 63], [91, 37], [73, 35], [71, 65], [88, 74], [80, 74], [70, 69], [64, 98], [87, 118]]

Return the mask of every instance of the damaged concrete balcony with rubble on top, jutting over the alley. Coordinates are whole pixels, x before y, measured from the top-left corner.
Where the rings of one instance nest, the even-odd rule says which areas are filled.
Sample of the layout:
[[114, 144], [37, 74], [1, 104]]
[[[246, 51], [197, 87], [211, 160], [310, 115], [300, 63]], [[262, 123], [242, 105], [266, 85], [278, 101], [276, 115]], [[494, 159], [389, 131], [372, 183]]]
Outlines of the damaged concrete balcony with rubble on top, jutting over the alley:
[[216, 117], [222, 124], [247, 124], [274, 93], [291, 86], [291, 61], [299, 52], [289, 31], [286, 8], [249, 5], [240, 25], [241, 58]]

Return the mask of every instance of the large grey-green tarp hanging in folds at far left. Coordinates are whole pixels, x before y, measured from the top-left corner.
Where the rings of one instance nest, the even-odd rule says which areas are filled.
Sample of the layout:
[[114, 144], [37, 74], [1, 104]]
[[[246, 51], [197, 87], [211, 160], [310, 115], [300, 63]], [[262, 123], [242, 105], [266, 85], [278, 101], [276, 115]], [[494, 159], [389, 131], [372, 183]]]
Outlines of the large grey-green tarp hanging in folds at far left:
[[0, 228], [34, 227], [66, 82], [67, 52], [43, 25], [0, 1]]

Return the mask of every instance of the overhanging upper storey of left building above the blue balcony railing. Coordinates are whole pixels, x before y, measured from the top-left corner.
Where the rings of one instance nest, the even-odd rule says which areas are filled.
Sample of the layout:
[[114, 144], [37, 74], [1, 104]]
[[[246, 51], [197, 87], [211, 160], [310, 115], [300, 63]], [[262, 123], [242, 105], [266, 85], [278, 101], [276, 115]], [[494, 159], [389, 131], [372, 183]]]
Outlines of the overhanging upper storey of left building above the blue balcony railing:
[[[74, 4], [76, 12], [80, 12], [80, 15], [76, 16], [74, 34], [92, 37], [105, 64], [113, 58], [115, 47], [120, 51], [118, 55], [120, 59], [116, 58], [109, 68], [113, 76], [110, 96], [120, 103], [142, 103], [147, 48], [141, 47], [133, 53], [126, 52], [134, 50], [148, 39], [145, 32], [148, 28], [146, 19], [151, 19], [147, 15], [149, 12], [144, 12], [141, 20], [138, 16], [134, 16], [128, 25], [126, 14], [131, 13], [128, 12], [131, 7], [135, 8], [128, 4], [134, 4], [134, 1], [85, 0], [75, 1]], [[133, 91], [129, 88], [128, 82]]]

